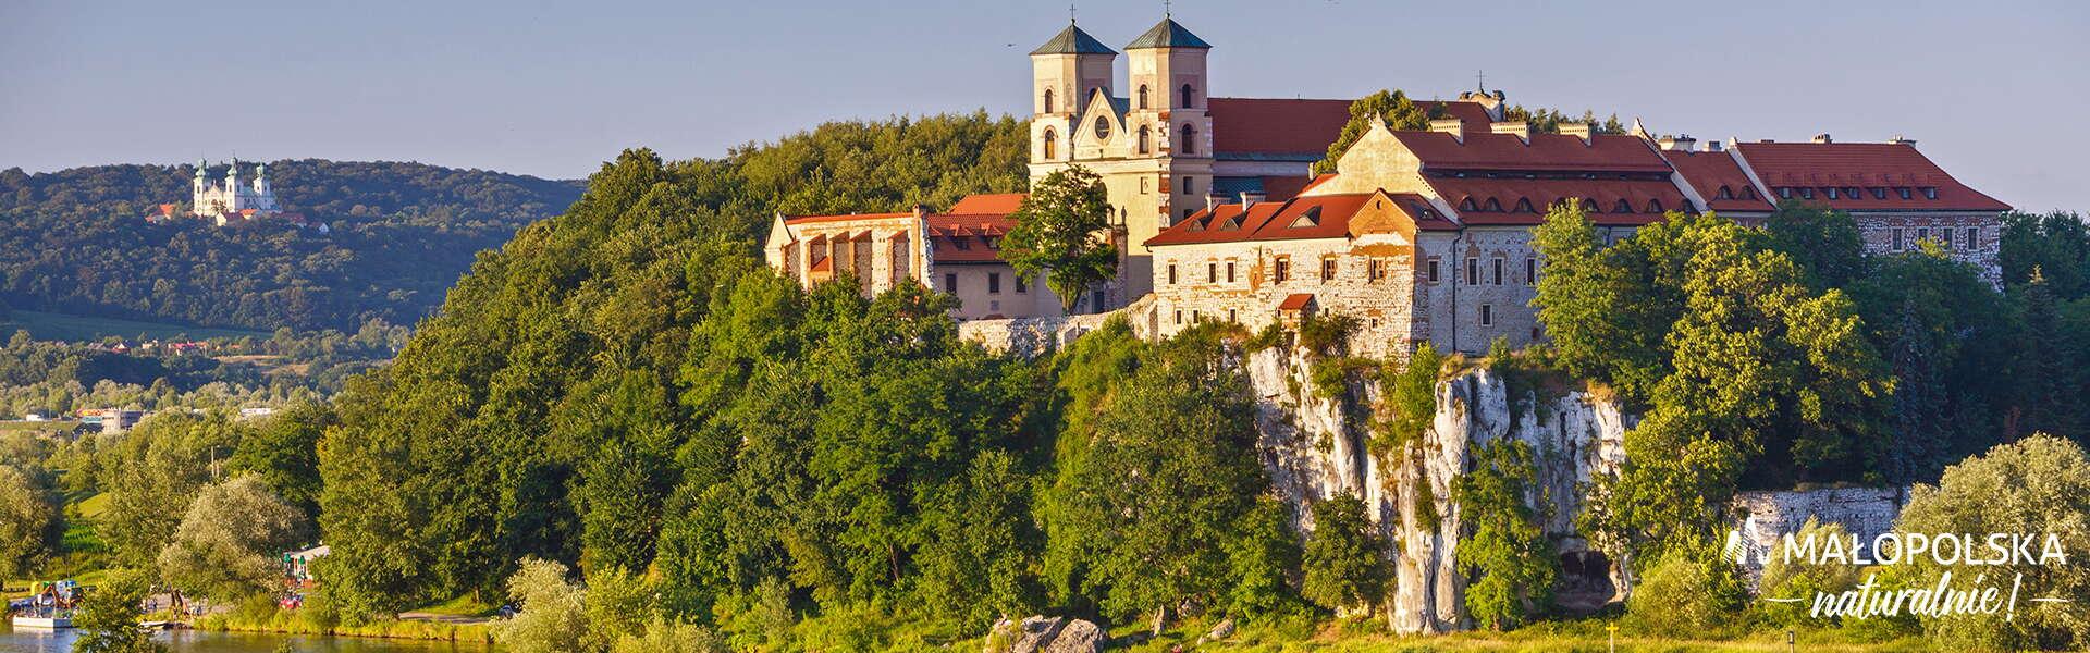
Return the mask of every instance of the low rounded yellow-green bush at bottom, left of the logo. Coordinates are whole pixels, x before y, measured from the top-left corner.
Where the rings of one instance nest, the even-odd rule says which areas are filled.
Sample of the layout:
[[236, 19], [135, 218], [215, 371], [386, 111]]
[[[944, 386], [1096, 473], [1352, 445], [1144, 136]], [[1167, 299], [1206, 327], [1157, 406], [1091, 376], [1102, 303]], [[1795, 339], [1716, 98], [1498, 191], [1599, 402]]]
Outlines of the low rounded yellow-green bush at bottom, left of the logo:
[[1643, 634], [1726, 636], [1743, 626], [1747, 601], [1718, 546], [1674, 546], [1641, 573], [1624, 622]]

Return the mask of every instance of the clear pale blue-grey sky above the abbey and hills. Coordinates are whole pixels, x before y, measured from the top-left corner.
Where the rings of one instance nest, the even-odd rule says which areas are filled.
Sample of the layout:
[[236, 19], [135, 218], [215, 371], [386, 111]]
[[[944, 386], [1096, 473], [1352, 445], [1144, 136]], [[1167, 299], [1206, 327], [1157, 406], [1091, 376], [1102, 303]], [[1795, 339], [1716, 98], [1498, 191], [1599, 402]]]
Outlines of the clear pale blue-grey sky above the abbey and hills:
[[[1120, 48], [1162, 2], [1076, 2]], [[1657, 134], [1908, 136], [2019, 209], [2090, 211], [2090, 2], [1179, 0], [1216, 96], [1450, 98]], [[0, 167], [382, 159], [581, 178], [828, 119], [1028, 111], [1064, 2], [0, 0]], [[1122, 61], [1118, 84], [1124, 84]], [[1122, 88], [1120, 88], [1122, 92]]]

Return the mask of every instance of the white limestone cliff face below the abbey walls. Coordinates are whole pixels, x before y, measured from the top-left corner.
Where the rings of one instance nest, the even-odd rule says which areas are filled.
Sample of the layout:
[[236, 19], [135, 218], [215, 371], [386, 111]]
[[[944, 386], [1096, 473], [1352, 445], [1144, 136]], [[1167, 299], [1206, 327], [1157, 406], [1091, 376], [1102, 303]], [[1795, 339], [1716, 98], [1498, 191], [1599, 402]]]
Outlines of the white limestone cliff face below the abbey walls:
[[1450, 481], [1471, 465], [1473, 446], [1503, 437], [1522, 440], [1534, 452], [1545, 492], [1528, 500], [1563, 553], [1570, 578], [1563, 599], [1601, 605], [1618, 586], [1607, 561], [1593, 559], [1574, 532], [1580, 483], [1624, 460], [1630, 416], [1618, 404], [1584, 391], [1515, 387], [1505, 375], [1469, 370], [1438, 383], [1436, 419], [1415, 450], [1375, 460], [1365, 448], [1375, 383], [1352, 385], [1342, 398], [1319, 398], [1308, 360], [1285, 350], [1252, 354], [1248, 373], [1258, 396], [1264, 465], [1294, 513], [1308, 515], [1315, 500], [1352, 492], [1373, 506], [1394, 542], [1388, 559], [1396, 590], [1386, 611], [1396, 632], [1469, 628], [1465, 578], [1455, 563], [1461, 523], [1459, 506], [1448, 500]]

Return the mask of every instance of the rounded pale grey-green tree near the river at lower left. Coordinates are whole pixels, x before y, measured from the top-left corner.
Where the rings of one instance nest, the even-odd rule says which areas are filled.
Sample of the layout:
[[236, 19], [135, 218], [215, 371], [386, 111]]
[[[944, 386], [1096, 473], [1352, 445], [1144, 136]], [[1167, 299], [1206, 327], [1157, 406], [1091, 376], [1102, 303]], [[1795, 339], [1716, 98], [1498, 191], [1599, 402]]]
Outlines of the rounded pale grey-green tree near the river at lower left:
[[305, 513], [270, 494], [261, 477], [238, 475], [196, 494], [159, 569], [186, 592], [236, 603], [280, 588], [280, 555], [309, 532]]

